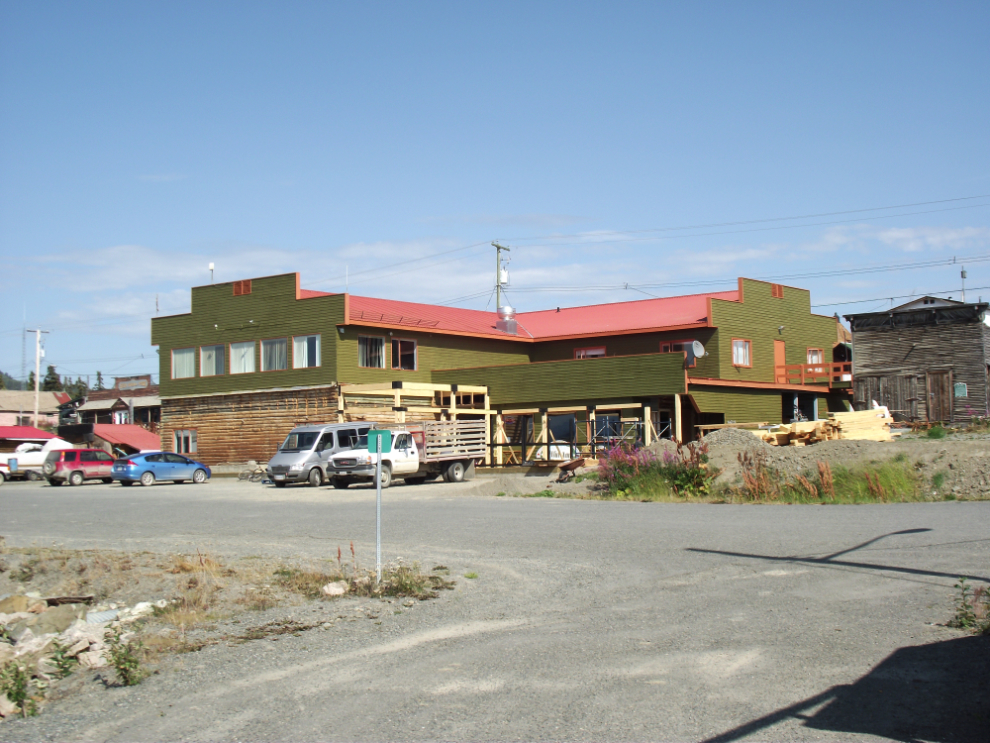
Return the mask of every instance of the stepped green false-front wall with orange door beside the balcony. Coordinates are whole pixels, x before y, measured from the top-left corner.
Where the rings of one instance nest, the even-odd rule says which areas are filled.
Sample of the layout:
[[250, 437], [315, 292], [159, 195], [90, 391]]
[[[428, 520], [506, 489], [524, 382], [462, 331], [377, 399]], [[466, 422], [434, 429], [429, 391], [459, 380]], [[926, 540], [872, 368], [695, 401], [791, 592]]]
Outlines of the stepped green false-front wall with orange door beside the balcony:
[[[720, 379], [749, 382], [774, 381], [774, 341], [786, 343], [788, 364], [808, 363], [808, 349], [825, 351], [825, 362], [832, 361], [837, 335], [835, 319], [811, 314], [811, 293], [806, 289], [784, 287], [782, 299], [772, 297], [770, 284], [742, 279], [742, 302], [713, 299], [712, 324], [718, 328]], [[778, 328], [783, 326], [782, 331]], [[732, 365], [732, 339], [751, 342], [752, 368]], [[711, 350], [710, 350], [711, 352]], [[691, 371], [691, 376], [704, 376]]]

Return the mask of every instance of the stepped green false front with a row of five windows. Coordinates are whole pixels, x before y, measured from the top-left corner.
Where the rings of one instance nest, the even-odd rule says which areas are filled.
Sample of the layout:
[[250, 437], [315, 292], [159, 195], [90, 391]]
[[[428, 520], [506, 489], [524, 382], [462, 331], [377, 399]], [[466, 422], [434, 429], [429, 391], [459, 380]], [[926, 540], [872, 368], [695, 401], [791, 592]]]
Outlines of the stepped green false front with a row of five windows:
[[[344, 295], [334, 294], [296, 299], [296, 274], [283, 274], [252, 280], [251, 293], [235, 297], [231, 283], [195, 287], [192, 312], [187, 315], [156, 317], [151, 321], [151, 343], [158, 346], [161, 394], [199, 395], [280, 387], [330, 384], [337, 381], [337, 323], [344, 318]], [[253, 322], [252, 322], [253, 321]], [[292, 368], [292, 336], [321, 336], [320, 366]], [[229, 344], [287, 338], [289, 368], [262, 372], [261, 344], [255, 346], [255, 371], [230, 374]], [[217, 344], [228, 345], [225, 374], [172, 379], [172, 349]]]

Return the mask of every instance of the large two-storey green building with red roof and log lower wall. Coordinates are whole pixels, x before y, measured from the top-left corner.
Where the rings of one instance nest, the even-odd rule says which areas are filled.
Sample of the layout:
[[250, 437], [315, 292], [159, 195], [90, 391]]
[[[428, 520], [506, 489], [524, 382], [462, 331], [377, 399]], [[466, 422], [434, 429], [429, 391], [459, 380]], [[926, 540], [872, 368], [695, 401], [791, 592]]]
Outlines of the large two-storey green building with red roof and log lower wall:
[[813, 418], [849, 399], [836, 320], [811, 312], [807, 290], [749, 279], [500, 317], [309, 291], [285, 274], [194, 288], [191, 312], [152, 320], [152, 343], [163, 447], [210, 464], [267, 459], [293, 425], [347, 418], [347, 385], [436, 386], [407, 420], [464, 414], [458, 386], [487, 389], [493, 461], [525, 459], [536, 440], [690, 439], [700, 424]]

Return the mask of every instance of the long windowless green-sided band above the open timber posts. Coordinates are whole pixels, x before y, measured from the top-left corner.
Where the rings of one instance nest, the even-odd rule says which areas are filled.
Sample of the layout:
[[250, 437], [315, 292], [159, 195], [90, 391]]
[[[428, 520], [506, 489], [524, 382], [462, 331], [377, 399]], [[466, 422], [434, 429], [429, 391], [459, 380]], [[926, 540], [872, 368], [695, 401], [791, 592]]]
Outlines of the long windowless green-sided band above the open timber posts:
[[684, 359], [676, 354], [609, 356], [435, 371], [438, 384], [487, 385], [492, 405], [648, 397], [684, 392]]

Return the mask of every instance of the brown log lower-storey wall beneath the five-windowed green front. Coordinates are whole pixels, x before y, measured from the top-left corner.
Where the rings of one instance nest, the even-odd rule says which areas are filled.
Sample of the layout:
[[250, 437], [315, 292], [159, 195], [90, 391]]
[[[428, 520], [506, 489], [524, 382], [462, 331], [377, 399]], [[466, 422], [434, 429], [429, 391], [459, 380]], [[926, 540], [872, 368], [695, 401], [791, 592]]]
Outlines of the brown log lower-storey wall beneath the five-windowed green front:
[[174, 432], [196, 431], [189, 456], [208, 465], [264, 464], [295, 426], [337, 420], [337, 385], [162, 399], [162, 448], [174, 451]]

